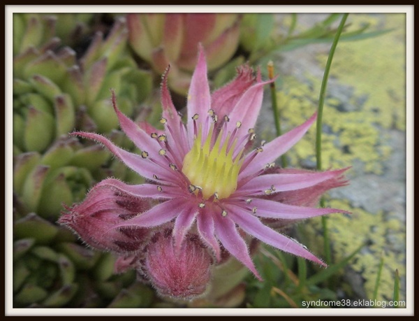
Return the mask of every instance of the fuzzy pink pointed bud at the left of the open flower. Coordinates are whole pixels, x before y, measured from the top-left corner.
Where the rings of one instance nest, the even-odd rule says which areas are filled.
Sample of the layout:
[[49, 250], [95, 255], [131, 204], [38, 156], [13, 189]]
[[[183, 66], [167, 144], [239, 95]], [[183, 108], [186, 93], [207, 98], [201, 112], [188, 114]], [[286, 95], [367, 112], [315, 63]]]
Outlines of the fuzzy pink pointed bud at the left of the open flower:
[[67, 208], [59, 223], [73, 229], [82, 241], [98, 250], [121, 254], [140, 250], [149, 236], [148, 229], [115, 229], [115, 226], [142, 213], [149, 204], [145, 199], [126, 194], [119, 185], [122, 183], [114, 179], [98, 183], [82, 203]]

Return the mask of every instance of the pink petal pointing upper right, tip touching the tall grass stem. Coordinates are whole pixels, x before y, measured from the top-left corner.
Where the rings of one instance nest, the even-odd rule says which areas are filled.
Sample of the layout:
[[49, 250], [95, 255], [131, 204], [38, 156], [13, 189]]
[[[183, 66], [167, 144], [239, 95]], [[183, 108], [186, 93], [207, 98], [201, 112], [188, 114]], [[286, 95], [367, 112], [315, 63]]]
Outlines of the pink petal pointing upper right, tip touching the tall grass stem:
[[240, 173], [239, 180], [264, 169], [266, 164], [274, 162], [275, 159], [293, 147], [293, 145], [295, 145], [297, 141], [300, 141], [302, 136], [309, 130], [311, 124], [316, 120], [316, 117], [317, 113], [314, 113], [314, 115], [312, 115], [307, 122], [304, 122], [304, 124], [291, 129], [291, 131], [288, 131], [286, 134], [281, 135], [264, 145], [263, 152], [259, 152], [249, 166]]

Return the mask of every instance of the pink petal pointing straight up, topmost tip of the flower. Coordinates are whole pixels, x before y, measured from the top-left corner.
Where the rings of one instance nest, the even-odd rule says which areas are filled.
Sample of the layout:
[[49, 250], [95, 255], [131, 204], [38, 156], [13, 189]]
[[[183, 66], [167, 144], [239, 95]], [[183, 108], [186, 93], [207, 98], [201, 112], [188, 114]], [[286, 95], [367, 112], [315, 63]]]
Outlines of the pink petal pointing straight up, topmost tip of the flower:
[[198, 114], [196, 120], [198, 128], [199, 124], [207, 117], [208, 110], [211, 108], [210, 84], [207, 78], [207, 62], [205, 62], [205, 54], [203, 46], [199, 46], [198, 64], [193, 72], [191, 86], [188, 93], [188, 133], [193, 138], [193, 120], [192, 117]]

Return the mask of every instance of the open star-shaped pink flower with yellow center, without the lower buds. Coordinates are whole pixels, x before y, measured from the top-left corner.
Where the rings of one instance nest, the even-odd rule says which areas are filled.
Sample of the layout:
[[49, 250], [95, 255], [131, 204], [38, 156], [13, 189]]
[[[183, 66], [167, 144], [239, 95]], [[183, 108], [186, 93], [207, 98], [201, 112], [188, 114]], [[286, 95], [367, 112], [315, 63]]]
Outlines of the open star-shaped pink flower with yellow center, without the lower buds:
[[[299, 127], [250, 150], [256, 136], [253, 127], [262, 105], [263, 86], [270, 81], [263, 82], [260, 73], [253, 77], [251, 69], [244, 66], [232, 83], [210, 94], [207, 64], [200, 48], [189, 88], [185, 125], [172, 104], [167, 76], [167, 73], [163, 76], [161, 86], [163, 131], [152, 131], [151, 125], [135, 124], [119, 111], [115, 94], [112, 95], [122, 130], [141, 150], [140, 155], [123, 150], [98, 134], [73, 133], [102, 143], [126, 166], [152, 182], [121, 183], [118, 188], [124, 195], [158, 201], [139, 215], [116, 224], [112, 222], [103, 237], [113, 237], [115, 230], [122, 228], [159, 227], [173, 222], [175, 252], [185, 246], [186, 235], [193, 228], [212, 250], [217, 262], [222, 250], [227, 250], [259, 279], [248, 245], [242, 238], [243, 231], [275, 248], [325, 265], [303, 245], [262, 221], [295, 221], [346, 213], [335, 208], [300, 206], [299, 202], [275, 199], [277, 195], [291, 193], [292, 196], [293, 191], [339, 181], [346, 171], [272, 171], [276, 168], [275, 159], [302, 138], [316, 120], [316, 113]], [[326, 186], [321, 192], [335, 185]], [[151, 262], [149, 269], [154, 269]], [[159, 274], [156, 272], [156, 276]]]

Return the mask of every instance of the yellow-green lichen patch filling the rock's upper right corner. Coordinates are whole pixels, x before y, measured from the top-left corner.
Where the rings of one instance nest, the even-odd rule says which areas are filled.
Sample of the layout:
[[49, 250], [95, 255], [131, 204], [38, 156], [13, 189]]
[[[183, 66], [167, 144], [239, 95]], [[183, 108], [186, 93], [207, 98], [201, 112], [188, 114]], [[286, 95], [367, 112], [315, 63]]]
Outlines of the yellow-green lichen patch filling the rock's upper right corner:
[[[351, 14], [348, 31], [370, 24], [369, 30], [390, 30], [362, 41], [341, 42], [333, 58], [330, 77], [355, 88], [355, 96], [368, 97], [364, 113], [384, 128], [406, 128], [406, 15]], [[324, 65], [327, 57], [318, 56]]]

